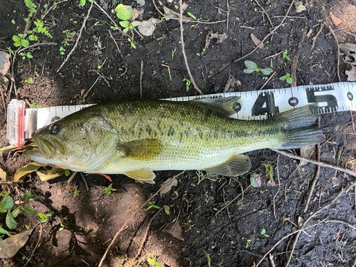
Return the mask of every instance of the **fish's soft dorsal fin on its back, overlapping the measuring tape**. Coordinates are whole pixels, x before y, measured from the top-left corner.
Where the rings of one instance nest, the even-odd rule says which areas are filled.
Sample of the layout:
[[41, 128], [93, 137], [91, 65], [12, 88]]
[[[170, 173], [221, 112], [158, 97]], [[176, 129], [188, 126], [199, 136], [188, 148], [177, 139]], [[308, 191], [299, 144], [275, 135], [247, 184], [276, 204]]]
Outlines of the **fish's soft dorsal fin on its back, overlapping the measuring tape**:
[[242, 107], [241, 98], [239, 96], [231, 96], [229, 98], [202, 98], [189, 102], [207, 105], [209, 108], [217, 110], [227, 117], [236, 114], [236, 110], [240, 110]]

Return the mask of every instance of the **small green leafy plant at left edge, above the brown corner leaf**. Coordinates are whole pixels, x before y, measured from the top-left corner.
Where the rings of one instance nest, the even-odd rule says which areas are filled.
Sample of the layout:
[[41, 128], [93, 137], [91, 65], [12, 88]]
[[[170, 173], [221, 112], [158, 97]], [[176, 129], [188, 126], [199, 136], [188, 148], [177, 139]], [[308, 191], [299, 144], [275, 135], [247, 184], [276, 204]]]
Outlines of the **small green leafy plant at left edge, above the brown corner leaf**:
[[[14, 199], [9, 196], [9, 192], [1, 192], [0, 197], [3, 197], [3, 199], [1, 199], [0, 201], [0, 213], [6, 213], [5, 223], [6, 226], [11, 230], [16, 229], [17, 223], [15, 221], [15, 218], [20, 214], [20, 212], [28, 216], [35, 216], [36, 214], [38, 214], [38, 211], [26, 205], [31, 199], [31, 190], [23, 194], [22, 201], [19, 201], [19, 204], [17, 204], [17, 208], [13, 211], [11, 211], [11, 209], [13, 209], [16, 205]], [[11, 236], [11, 234], [9, 234], [9, 232], [1, 226], [0, 233]]]

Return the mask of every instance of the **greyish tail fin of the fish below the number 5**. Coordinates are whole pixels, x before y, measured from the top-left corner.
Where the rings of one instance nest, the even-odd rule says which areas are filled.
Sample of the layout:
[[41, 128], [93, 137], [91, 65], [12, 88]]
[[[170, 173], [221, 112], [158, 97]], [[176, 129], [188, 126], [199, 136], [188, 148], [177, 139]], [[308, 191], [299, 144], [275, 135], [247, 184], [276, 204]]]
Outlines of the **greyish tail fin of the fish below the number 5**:
[[285, 130], [285, 138], [279, 149], [290, 149], [316, 145], [324, 140], [323, 131], [315, 126], [319, 115], [315, 112], [318, 105], [306, 105], [280, 113], [271, 119], [282, 123]]

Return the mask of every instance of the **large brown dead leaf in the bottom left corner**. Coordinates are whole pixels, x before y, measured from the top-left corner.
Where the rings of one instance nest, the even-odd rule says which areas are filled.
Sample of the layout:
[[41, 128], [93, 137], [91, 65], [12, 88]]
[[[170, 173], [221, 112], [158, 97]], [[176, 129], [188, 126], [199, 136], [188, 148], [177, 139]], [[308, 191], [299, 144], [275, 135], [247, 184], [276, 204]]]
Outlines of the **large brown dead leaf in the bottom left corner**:
[[22, 248], [30, 236], [31, 230], [22, 232], [21, 234], [16, 234], [15, 236], [10, 236], [8, 239], [0, 242], [0, 258], [12, 258], [15, 256], [17, 251]]

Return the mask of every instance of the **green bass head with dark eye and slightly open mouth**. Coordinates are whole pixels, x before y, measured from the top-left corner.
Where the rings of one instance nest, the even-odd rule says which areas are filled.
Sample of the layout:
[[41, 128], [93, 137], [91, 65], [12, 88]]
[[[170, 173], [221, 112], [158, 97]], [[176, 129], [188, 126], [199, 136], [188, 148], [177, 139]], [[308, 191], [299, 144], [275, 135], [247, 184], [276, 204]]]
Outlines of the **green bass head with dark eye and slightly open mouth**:
[[24, 155], [42, 164], [88, 172], [112, 155], [116, 135], [101, 115], [73, 113], [33, 132], [38, 149], [25, 150]]

